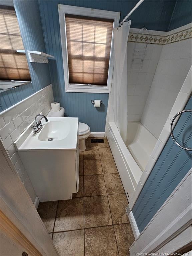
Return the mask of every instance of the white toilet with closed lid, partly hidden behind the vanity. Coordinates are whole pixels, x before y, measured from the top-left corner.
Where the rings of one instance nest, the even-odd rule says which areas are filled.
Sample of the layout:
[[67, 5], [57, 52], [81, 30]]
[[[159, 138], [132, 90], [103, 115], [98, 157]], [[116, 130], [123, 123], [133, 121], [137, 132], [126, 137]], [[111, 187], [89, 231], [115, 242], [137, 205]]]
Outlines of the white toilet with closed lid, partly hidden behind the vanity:
[[[59, 111], [52, 111], [48, 113], [47, 117], [63, 117], [65, 113], [64, 108], [60, 108]], [[79, 151], [85, 151], [86, 146], [85, 146], [85, 140], [89, 137], [91, 131], [90, 127], [87, 124], [84, 123], [79, 123], [79, 144], [80, 144], [80, 149]]]

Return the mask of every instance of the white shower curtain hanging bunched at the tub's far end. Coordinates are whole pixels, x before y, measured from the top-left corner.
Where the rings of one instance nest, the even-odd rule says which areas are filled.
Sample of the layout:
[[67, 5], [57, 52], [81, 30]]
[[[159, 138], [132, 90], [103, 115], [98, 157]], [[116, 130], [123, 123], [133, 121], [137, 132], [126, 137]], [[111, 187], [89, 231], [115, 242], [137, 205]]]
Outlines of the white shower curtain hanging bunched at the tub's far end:
[[127, 41], [131, 20], [113, 29], [115, 64], [113, 73], [114, 118], [123, 141], [127, 139]]

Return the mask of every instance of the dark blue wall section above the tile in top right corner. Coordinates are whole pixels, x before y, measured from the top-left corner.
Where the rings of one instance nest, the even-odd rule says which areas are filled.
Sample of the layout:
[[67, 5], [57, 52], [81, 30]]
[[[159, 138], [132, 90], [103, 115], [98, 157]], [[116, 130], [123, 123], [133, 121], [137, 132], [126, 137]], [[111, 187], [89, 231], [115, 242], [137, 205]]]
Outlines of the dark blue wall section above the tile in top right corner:
[[176, 1], [168, 31], [191, 22], [192, 1]]

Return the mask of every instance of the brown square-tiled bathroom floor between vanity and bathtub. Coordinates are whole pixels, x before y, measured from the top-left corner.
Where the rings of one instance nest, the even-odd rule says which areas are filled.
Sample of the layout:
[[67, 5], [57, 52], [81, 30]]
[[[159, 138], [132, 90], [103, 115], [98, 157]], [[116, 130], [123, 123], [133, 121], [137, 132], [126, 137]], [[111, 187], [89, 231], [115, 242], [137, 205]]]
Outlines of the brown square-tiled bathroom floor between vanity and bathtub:
[[80, 152], [79, 192], [43, 202], [39, 215], [60, 256], [127, 256], [134, 241], [128, 201], [107, 138], [86, 140]]

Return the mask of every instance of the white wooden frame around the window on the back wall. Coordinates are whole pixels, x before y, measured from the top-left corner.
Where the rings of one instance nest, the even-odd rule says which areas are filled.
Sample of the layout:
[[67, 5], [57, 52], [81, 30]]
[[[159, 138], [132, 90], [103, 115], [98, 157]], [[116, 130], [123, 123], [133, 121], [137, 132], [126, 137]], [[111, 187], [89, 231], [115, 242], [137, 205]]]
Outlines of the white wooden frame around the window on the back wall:
[[114, 20], [113, 28], [114, 28], [114, 27], [118, 27], [119, 25], [120, 12], [105, 11], [105, 10], [98, 10], [98, 9], [91, 9], [91, 8], [77, 7], [77, 6], [70, 6], [70, 5], [63, 5], [63, 4], [58, 4], [58, 11], [59, 11], [62, 58], [63, 58], [63, 71], [64, 71], [64, 80], [65, 80], [65, 92], [110, 93], [112, 77], [113, 77], [113, 67], [114, 67], [113, 33], [112, 33], [112, 39], [111, 39], [111, 52], [110, 52], [110, 59], [109, 59], [107, 85], [85, 85], [85, 84], [69, 83], [65, 13], [73, 14], [73, 15], [88, 16], [88, 17], [113, 19]]

